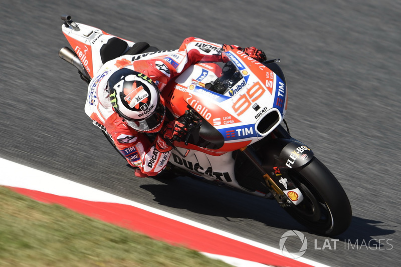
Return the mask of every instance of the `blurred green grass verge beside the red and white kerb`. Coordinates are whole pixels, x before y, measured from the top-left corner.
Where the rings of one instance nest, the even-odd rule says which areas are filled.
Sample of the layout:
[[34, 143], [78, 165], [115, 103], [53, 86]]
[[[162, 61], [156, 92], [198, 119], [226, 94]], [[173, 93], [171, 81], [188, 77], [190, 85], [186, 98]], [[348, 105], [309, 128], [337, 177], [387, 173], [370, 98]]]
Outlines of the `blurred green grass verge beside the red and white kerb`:
[[0, 186], [0, 266], [230, 266]]

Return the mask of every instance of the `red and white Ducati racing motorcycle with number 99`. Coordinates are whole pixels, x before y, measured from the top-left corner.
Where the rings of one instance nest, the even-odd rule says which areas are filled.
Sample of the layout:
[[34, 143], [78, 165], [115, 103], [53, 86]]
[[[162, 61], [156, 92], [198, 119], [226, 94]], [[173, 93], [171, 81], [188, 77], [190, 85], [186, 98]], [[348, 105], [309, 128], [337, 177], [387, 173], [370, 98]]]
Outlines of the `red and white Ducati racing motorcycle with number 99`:
[[[88, 84], [104, 63], [120, 56], [134, 61], [158, 54], [174, 64], [172, 50], [118, 38], [71, 16], [61, 19], [72, 49], [62, 48], [59, 56]], [[289, 134], [280, 60], [260, 63], [236, 49], [222, 54], [225, 63], [194, 64], [161, 92], [171, 119], [188, 129], [173, 143], [166, 169], [275, 199], [316, 233], [345, 231], [352, 217], [346, 193], [312, 150]]]

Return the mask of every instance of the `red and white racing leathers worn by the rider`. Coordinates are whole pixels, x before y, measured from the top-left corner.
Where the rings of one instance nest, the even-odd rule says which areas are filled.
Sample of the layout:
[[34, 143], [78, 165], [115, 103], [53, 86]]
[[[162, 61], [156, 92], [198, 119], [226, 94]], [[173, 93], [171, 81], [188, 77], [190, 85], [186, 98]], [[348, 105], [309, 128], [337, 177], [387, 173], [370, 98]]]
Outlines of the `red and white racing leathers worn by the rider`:
[[110, 102], [108, 78], [121, 68], [129, 68], [145, 74], [162, 91], [171, 79], [194, 63], [222, 61], [222, 48], [223, 45], [190, 37], [178, 50], [118, 57], [106, 62], [94, 75], [88, 87], [85, 113], [95, 125], [107, 132], [128, 163], [139, 168], [136, 176], [154, 176], [163, 170], [170, 157], [171, 146], [160, 135], [151, 142], [145, 133], [135, 131], [124, 122]]

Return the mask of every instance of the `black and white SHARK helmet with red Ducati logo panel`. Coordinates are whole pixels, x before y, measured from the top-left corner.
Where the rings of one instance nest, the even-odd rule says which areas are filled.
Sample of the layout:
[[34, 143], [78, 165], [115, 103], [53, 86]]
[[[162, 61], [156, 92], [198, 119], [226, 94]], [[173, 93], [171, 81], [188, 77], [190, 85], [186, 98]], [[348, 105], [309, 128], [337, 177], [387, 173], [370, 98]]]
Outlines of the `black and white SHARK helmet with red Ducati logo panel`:
[[164, 100], [146, 75], [123, 68], [113, 73], [107, 86], [115, 112], [138, 132], [157, 132], [164, 117]]

